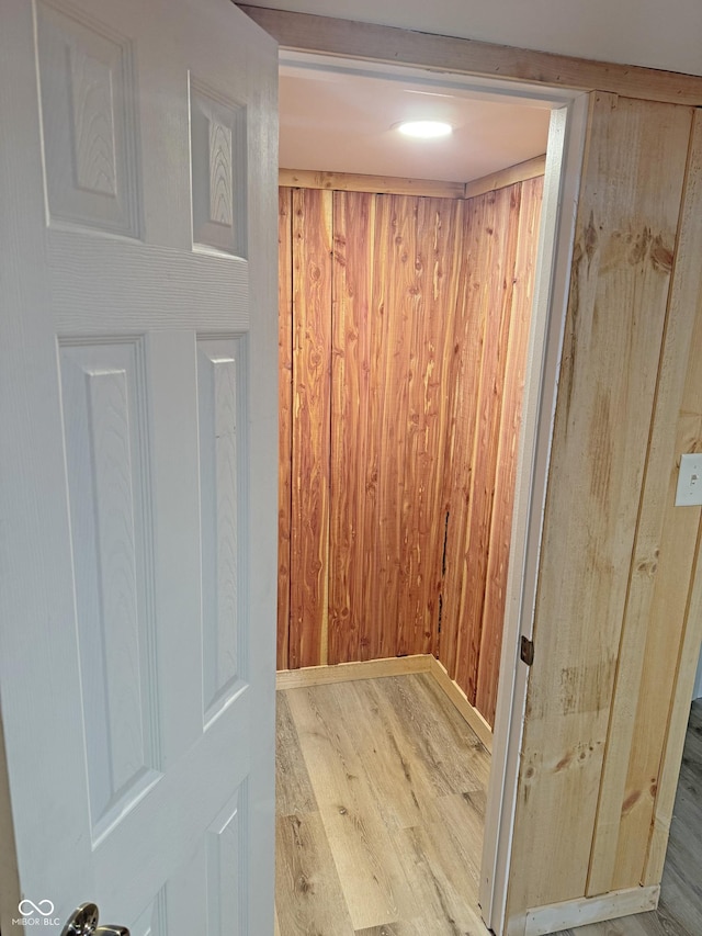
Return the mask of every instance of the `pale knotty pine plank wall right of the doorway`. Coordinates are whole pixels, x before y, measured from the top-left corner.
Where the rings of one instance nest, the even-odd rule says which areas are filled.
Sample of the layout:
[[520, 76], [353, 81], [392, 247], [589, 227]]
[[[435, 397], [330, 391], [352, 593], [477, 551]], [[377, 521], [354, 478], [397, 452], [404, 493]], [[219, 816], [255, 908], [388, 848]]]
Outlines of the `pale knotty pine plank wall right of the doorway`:
[[[670, 715], [660, 689], [675, 688], [699, 529], [699, 509], [671, 503], [676, 460], [701, 441], [699, 353], [684, 391], [684, 349], [700, 339], [689, 256], [699, 192], [680, 208], [692, 119], [687, 106], [593, 95], [517, 802], [514, 933], [529, 907], [660, 879], [644, 873]], [[676, 305], [681, 230], [694, 282]]]

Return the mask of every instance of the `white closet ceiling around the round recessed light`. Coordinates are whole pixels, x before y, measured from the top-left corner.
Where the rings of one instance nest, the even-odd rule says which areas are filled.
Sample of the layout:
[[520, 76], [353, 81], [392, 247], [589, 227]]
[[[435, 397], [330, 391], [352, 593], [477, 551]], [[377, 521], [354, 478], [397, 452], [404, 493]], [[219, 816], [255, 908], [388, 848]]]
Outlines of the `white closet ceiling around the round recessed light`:
[[[467, 182], [545, 153], [548, 115], [543, 105], [477, 99], [420, 79], [283, 65], [280, 165]], [[432, 119], [451, 123], [451, 137], [419, 140], [396, 129]]]

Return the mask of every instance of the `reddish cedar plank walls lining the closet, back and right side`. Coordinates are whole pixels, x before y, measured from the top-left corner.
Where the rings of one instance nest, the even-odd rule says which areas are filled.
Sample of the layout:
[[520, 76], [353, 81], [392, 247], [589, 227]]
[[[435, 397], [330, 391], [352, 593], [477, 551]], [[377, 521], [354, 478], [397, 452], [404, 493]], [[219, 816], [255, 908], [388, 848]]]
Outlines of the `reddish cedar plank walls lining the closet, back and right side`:
[[432, 653], [492, 723], [542, 191], [281, 188], [279, 668]]

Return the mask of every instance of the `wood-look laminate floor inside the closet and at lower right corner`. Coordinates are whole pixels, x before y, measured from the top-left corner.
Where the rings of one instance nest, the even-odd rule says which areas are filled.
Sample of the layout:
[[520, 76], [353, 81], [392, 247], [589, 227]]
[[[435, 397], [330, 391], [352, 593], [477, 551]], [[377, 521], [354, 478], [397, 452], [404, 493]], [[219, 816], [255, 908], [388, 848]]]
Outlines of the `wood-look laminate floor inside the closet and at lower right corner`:
[[[684, 800], [702, 831], [698, 712], [676, 813]], [[279, 691], [276, 936], [487, 936], [488, 773], [489, 754], [429, 674]], [[702, 936], [689, 823], [657, 914], [568, 934]]]

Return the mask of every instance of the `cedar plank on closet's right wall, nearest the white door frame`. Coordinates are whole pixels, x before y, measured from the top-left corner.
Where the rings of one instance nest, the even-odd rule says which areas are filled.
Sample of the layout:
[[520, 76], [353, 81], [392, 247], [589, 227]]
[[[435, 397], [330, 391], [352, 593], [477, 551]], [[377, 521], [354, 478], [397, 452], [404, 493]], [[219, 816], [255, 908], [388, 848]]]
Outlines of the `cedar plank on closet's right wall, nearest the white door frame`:
[[509, 566], [517, 455], [521, 427], [526, 348], [531, 325], [534, 268], [539, 246], [539, 222], [544, 188], [543, 176], [521, 183], [519, 218], [510, 223], [518, 227], [517, 256], [509, 341], [505, 362], [505, 383], [500, 413], [499, 441], [495, 470], [495, 496], [485, 582], [485, 604], [480, 632], [477, 672], [476, 708], [495, 723], [500, 650]]

